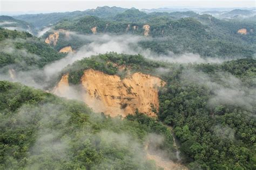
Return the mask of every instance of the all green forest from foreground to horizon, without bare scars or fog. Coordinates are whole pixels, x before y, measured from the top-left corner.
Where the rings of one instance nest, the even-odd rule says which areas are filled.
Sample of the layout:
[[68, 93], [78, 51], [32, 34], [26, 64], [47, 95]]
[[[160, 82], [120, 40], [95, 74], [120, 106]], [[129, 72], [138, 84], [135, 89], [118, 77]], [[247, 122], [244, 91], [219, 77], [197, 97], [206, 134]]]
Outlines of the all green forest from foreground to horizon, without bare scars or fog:
[[[242, 10], [226, 15], [236, 13], [250, 15]], [[78, 60], [59, 73], [59, 78], [69, 73], [71, 85], [80, 83], [86, 69], [121, 78], [129, 72], [157, 76], [167, 83], [159, 89], [158, 119], [138, 111], [124, 119], [110, 118], [93, 113], [78, 101], [0, 81], [0, 169], [156, 169], [154, 162], [145, 158], [144, 146], [152, 133], [165, 138], [157, 148], [177, 160], [168, 126], [190, 169], [256, 169], [255, 17], [226, 21], [192, 11], [147, 14], [104, 6], [17, 18], [38, 28], [53, 23], [53, 29], [84, 35], [92, 35], [91, 28], [96, 26], [95, 37], [102, 33], [141, 35], [138, 44], [129, 44], [134, 51], [150, 49], [159, 56], [173, 52], [243, 59], [179, 64], [110, 52]], [[145, 24], [150, 25], [149, 37], [143, 37]], [[247, 29], [246, 35], [237, 33], [242, 28]], [[79, 50], [97, 39], [78, 37], [75, 33], [65, 37], [60, 32], [57, 45], [51, 47], [28, 32], [0, 28], [0, 73], [40, 70], [65, 56], [57, 51], [62, 47]], [[42, 77], [37, 78], [43, 84]], [[122, 104], [122, 108], [126, 106]]]

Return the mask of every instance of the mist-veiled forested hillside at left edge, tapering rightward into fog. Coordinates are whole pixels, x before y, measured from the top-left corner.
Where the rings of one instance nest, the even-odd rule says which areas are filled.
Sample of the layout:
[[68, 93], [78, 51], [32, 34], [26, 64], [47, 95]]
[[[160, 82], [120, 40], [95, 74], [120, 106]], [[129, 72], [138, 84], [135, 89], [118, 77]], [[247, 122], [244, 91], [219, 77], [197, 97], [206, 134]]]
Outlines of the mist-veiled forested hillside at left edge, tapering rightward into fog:
[[28, 32], [11, 31], [0, 28], [0, 67], [5, 70], [31, 70], [65, 57], [50, 45]]

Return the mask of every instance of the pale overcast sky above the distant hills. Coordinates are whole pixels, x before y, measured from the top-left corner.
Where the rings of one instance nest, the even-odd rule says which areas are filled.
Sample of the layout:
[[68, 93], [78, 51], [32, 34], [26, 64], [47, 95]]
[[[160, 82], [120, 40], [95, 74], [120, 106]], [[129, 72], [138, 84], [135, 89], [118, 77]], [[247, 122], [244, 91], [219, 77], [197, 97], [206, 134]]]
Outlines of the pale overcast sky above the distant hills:
[[106, 1], [106, 0], [75, 0], [75, 1], [42, 1], [42, 0], [0, 0], [2, 13], [39, 13], [39, 12], [63, 12], [84, 11], [95, 9], [97, 6], [120, 6], [123, 8], [152, 9], [152, 8], [252, 8], [256, 6], [256, 0], [161, 0], [161, 1]]

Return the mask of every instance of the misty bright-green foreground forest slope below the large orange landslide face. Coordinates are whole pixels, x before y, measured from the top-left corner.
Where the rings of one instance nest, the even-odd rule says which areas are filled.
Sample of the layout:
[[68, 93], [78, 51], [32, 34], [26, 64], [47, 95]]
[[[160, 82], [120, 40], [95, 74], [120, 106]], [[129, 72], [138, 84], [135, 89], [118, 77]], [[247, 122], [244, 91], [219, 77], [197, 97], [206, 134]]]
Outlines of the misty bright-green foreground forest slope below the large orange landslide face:
[[149, 134], [162, 135], [158, 147], [176, 159], [169, 128], [142, 113], [110, 118], [8, 81], [0, 92], [1, 169], [157, 169], [145, 159]]

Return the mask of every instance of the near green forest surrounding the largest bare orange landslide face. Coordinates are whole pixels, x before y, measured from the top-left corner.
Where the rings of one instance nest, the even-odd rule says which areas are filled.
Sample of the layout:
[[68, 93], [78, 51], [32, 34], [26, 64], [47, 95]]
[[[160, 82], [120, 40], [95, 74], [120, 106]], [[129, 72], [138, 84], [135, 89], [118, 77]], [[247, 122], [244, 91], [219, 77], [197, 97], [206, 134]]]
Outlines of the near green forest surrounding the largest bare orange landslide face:
[[78, 101], [0, 81], [0, 166], [156, 169], [145, 159], [151, 133], [166, 139], [157, 146], [152, 141], [152, 146], [177, 160], [171, 132], [163, 122], [173, 127], [188, 168], [254, 169], [255, 67], [255, 59], [181, 65], [107, 53], [62, 71], [69, 74], [71, 86], [79, 85], [88, 69], [122, 79], [136, 72], [158, 76], [166, 82], [158, 93], [159, 112], [154, 110], [158, 119], [138, 112], [124, 120], [110, 118]]

